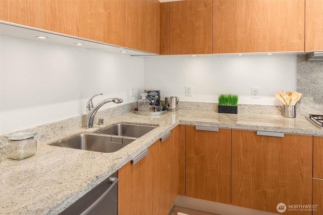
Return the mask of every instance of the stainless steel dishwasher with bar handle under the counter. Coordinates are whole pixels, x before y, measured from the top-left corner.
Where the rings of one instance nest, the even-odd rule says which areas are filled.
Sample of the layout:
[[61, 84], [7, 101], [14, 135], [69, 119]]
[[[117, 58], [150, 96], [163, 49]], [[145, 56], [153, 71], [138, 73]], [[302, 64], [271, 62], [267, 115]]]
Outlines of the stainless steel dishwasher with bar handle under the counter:
[[60, 214], [117, 215], [118, 171], [102, 181]]

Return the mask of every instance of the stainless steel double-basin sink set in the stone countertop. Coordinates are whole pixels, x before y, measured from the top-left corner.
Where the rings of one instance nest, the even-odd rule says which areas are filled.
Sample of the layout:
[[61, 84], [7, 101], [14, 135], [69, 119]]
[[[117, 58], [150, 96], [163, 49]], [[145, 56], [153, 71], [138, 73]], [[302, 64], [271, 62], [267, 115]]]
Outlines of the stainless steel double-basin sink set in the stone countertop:
[[119, 123], [95, 133], [81, 133], [51, 144], [51, 146], [113, 153], [148, 133], [156, 126]]

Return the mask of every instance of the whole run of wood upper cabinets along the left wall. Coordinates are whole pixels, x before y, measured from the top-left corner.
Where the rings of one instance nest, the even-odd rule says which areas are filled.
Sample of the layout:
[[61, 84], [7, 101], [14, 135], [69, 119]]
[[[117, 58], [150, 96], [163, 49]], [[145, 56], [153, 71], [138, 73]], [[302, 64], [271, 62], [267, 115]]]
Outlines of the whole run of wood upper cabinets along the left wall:
[[0, 20], [159, 53], [158, 0], [2, 0]]

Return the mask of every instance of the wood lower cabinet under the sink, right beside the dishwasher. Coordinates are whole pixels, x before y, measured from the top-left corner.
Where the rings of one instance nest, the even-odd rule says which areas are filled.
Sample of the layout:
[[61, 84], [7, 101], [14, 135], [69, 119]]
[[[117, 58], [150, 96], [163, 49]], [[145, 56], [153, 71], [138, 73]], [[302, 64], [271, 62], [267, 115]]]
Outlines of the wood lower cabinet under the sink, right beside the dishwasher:
[[129, 162], [119, 169], [119, 215], [169, 213], [179, 192], [179, 139], [183, 144], [183, 132], [182, 126], [175, 127], [168, 137], [155, 141], [138, 163]]

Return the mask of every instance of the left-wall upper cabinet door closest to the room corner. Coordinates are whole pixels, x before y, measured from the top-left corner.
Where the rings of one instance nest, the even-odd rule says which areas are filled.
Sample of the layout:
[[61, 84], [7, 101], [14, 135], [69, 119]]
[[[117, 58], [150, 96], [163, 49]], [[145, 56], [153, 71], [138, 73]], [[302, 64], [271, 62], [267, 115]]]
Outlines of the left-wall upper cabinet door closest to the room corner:
[[127, 0], [126, 17], [126, 47], [159, 53], [159, 1]]

